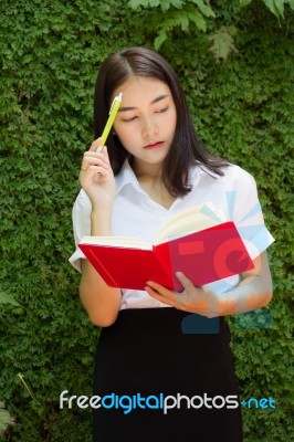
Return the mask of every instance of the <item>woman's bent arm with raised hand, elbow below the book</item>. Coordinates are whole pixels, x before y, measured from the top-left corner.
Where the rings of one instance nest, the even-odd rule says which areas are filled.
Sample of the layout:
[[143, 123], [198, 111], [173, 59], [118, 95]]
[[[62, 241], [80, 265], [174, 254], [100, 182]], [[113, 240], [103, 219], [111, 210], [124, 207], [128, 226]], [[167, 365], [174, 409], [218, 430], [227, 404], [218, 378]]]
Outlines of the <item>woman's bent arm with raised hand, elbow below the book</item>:
[[[112, 235], [112, 212], [115, 198], [115, 180], [107, 149], [96, 152], [101, 138], [84, 154], [80, 182], [91, 203], [91, 235]], [[91, 322], [101, 327], [115, 323], [120, 307], [120, 290], [109, 287], [86, 260], [82, 263], [80, 284], [81, 302]]]

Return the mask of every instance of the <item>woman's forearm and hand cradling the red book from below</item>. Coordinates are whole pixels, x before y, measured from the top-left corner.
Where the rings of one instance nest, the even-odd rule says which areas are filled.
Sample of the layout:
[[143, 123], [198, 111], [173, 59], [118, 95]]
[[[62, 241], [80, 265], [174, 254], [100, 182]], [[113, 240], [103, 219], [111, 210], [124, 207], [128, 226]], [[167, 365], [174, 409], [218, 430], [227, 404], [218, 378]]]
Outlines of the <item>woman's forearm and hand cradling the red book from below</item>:
[[148, 282], [146, 291], [161, 303], [207, 317], [235, 315], [265, 306], [272, 299], [272, 277], [266, 252], [253, 260], [254, 269], [241, 275], [241, 282], [230, 292], [217, 294], [206, 287], [195, 287], [178, 272], [183, 292], [176, 293]]

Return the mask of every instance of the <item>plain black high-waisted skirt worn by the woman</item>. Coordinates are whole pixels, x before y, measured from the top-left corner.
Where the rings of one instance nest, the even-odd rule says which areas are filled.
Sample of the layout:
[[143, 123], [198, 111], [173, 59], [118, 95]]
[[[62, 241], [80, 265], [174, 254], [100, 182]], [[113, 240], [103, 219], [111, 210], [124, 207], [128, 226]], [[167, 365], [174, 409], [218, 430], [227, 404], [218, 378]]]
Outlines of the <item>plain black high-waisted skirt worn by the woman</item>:
[[240, 442], [239, 387], [223, 318], [119, 312], [97, 346], [94, 442]]

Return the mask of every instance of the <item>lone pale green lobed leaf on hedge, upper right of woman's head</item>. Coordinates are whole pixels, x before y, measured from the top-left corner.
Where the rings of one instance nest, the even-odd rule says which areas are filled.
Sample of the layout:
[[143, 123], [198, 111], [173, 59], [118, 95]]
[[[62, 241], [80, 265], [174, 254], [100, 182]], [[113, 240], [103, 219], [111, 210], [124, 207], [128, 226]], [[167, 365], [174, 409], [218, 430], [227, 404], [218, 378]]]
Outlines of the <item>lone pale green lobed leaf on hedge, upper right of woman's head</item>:
[[209, 36], [212, 46], [209, 49], [217, 61], [225, 61], [229, 54], [237, 49], [233, 43], [233, 36], [237, 34], [234, 27], [221, 27], [218, 32]]

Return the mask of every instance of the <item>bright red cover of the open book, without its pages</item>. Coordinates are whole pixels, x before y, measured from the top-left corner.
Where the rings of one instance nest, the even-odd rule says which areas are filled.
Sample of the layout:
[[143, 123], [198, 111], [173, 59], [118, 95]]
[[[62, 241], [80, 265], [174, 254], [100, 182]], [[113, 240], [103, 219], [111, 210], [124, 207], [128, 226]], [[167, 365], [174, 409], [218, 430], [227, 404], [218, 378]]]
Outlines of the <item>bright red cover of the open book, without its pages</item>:
[[147, 281], [154, 281], [180, 292], [177, 271], [195, 285], [204, 285], [254, 266], [231, 221], [171, 239], [151, 250], [83, 241], [78, 246], [106, 284], [120, 288], [144, 290]]

